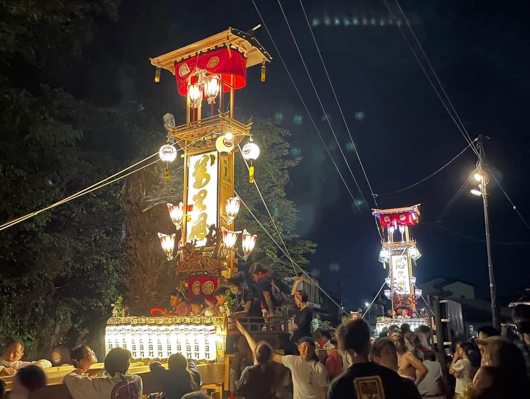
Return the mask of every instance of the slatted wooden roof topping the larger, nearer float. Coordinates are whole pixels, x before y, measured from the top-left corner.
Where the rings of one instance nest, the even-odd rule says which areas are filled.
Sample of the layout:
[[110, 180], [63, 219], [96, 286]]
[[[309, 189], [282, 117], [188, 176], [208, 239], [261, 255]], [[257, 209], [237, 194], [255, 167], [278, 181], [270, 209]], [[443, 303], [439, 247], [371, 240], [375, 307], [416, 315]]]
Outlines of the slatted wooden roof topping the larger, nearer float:
[[263, 61], [270, 61], [272, 57], [261, 46], [260, 42], [250, 33], [234, 28], [214, 34], [209, 38], [188, 44], [177, 50], [170, 51], [161, 56], [151, 58], [151, 64], [171, 71], [174, 75], [174, 63], [196, 56], [198, 52], [206, 52], [216, 48], [227, 46], [240, 50], [246, 58], [246, 67], [261, 64]]

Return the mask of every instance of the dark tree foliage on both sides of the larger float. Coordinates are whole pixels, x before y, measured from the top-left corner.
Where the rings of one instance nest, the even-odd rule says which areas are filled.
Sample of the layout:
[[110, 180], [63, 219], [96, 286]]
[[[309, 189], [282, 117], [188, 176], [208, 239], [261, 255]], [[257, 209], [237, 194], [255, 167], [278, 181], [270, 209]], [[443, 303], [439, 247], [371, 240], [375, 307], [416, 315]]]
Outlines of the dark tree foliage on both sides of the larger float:
[[[146, 12], [132, 13], [136, 6]], [[0, 0], [1, 223], [60, 201], [160, 146], [160, 116], [165, 107], [182, 106], [174, 101], [179, 96], [174, 90], [146, 96], [145, 106], [135, 101], [134, 90], [123, 90], [131, 79], [123, 71], [133, 67], [116, 54], [134, 44], [145, 56], [151, 40], [140, 40], [144, 31], [137, 27], [157, 20], [150, 7], [139, 0], [128, 8], [117, 0]], [[109, 34], [113, 24], [120, 25], [119, 38]], [[298, 239], [296, 208], [285, 198], [288, 168], [298, 162], [288, 157], [288, 132], [259, 121], [253, 133], [262, 150], [257, 181], [291, 255], [305, 265], [304, 254], [315, 246]], [[237, 191], [278, 239], [241, 156], [236, 159]], [[0, 344], [20, 337], [29, 357], [61, 343], [101, 350], [110, 305], [119, 295], [140, 313], [149, 301], [159, 304], [173, 284], [173, 268], [156, 231], [173, 227], [157, 198], [177, 202], [182, 195], [177, 186], [167, 191], [161, 171], [145, 171], [149, 186], [138, 179], [114, 183], [0, 231]], [[259, 235], [249, 264], [264, 259], [278, 277], [292, 273], [243, 208], [236, 226]]]

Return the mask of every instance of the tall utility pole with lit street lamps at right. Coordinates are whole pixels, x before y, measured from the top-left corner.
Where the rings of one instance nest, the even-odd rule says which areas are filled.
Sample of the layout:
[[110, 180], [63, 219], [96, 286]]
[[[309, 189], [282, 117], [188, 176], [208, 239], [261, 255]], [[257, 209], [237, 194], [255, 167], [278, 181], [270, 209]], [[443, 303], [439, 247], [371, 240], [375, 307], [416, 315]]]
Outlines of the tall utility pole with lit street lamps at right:
[[479, 135], [479, 174], [481, 175], [482, 204], [484, 207], [484, 229], [486, 234], [486, 250], [488, 252], [488, 272], [490, 277], [490, 296], [491, 296], [491, 316], [493, 327], [500, 330], [499, 324], [499, 309], [497, 306], [497, 292], [495, 287], [495, 278], [493, 277], [493, 261], [491, 260], [491, 242], [490, 242], [490, 218], [488, 213], [488, 177], [485, 173], [486, 167], [486, 153], [484, 151], [484, 143], [482, 134]]

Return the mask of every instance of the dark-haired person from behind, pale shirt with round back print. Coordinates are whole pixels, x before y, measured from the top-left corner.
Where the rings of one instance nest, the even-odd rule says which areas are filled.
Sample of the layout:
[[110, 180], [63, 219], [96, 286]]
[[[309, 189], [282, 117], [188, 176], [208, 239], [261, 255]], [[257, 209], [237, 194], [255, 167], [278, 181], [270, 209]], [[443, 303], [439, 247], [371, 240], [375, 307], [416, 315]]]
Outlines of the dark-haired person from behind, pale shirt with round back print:
[[81, 369], [68, 373], [65, 383], [73, 399], [119, 398], [142, 399], [142, 378], [128, 374], [131, 353], [122, 348], [113, 348], [105, 358], [106, 377], [90, 378]]

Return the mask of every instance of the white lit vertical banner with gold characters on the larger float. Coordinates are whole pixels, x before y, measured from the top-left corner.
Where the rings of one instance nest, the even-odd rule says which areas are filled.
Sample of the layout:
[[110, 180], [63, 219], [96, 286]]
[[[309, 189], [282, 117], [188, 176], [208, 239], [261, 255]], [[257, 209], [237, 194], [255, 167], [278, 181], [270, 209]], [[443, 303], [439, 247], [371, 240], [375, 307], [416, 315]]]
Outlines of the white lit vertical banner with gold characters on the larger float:
[[186, 240], [197, 240], [197, 247], [206, 244], [206, 235], [212, 224], [217, 226], [217, 151], [192, 155], [188, 158], [188, 206], [193, 205], [191, 221], [186, 223]]

